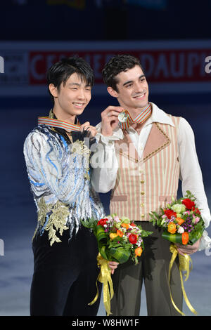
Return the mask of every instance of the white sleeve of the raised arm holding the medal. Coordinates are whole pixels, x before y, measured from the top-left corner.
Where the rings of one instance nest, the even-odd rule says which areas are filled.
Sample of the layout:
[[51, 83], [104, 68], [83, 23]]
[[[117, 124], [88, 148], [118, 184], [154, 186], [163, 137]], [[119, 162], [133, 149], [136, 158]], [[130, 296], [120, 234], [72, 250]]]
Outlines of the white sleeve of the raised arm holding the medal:
[[98, 145], [90, 159], [91, 185], [96, 192], [109, 192], [115, 186], [119, 167], [115, 154], [115, 140], [122, 139], [123, 133], [119, 128], [113, 133], [113, 136], [103, 136], [100, 133], [101, 124], [96, 127], [98, 129], [96, 134]]

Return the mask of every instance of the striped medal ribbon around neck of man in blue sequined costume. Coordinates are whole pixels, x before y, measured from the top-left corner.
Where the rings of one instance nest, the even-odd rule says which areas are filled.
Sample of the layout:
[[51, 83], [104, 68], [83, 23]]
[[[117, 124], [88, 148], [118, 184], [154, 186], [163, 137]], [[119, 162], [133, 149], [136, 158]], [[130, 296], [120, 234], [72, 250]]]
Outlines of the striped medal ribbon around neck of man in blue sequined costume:
[[70, 124], [66, 121], [54, 119], [50, 117], [38, 117], [38, 125], [46, 125], [52, 127], [63, 128], [65, 131], [80, 131], [79, 120], [77, 119], [77, 124]]

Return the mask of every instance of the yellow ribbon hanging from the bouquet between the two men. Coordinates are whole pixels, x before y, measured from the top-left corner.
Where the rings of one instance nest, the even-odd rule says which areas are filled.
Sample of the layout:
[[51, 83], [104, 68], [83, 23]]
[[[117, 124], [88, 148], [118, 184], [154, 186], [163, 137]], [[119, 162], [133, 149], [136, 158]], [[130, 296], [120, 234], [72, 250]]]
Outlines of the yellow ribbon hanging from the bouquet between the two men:
[[114, 293], [113, 282], [110, 276], [110, 268], [108, 267], [108, 260], [104, 259], [101, 256], [101, 253], [98, 253], [97, 261], [98, 261], [98, 267], [101, 268], [101, 271], [96, 280], [96, 288], [97, 288], [96, 296], [94, 300], [91, 301], [91, 303], [89, 303], [89, 305], [93, 305], [96, 302], [99, 294], [97, 282], [101, 282], [103, 284], [103, 303], [106, 309], [107, 316], [109, 316], [110, 314], [112, 314], [110, 312], [110, 301], [113, 298], [113, 293]]

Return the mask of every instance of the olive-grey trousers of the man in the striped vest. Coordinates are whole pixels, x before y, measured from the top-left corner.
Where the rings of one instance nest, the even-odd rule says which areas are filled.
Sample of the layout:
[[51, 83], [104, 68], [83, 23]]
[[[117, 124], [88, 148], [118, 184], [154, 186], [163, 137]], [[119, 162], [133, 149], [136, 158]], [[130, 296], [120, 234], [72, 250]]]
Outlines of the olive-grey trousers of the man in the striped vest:
[[152, 231], [153, 234], [143, 238], [144, 250], [139, 257], [139, 264], [134, 265], [129, 260], [118, 265], [112, 275], [115, 293], [111, 300], [111, 312], [113, 316], [139, 316], [144, 281], [148, 316], [180, 315], [170, 298], [171, 286], [174, 303], [182, 310], [178, 256], [172, 267], [169, 286], [168, 270], [172, 258], [170, 242], [161, 237], [161, 228], [154, 227], [148, 221], [136, 223], [140, 224], [143, 230]]

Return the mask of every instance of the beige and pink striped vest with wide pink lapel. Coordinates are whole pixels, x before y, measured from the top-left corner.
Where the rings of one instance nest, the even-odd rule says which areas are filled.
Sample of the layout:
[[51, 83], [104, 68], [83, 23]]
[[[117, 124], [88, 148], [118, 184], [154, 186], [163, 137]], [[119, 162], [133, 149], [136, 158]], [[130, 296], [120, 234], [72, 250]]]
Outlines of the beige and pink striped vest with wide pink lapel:
[[123, 140], [115, 141], [119, 169], [110, 199], [111, 214], [147, 221], [149, 212], [159, 211], [160, 206], [177, 196], [179, 117], [170, 115], [170, 118], [174, 127], [153, 123], [142, 159], [139, 159], [127, 131], [124, 131]]

